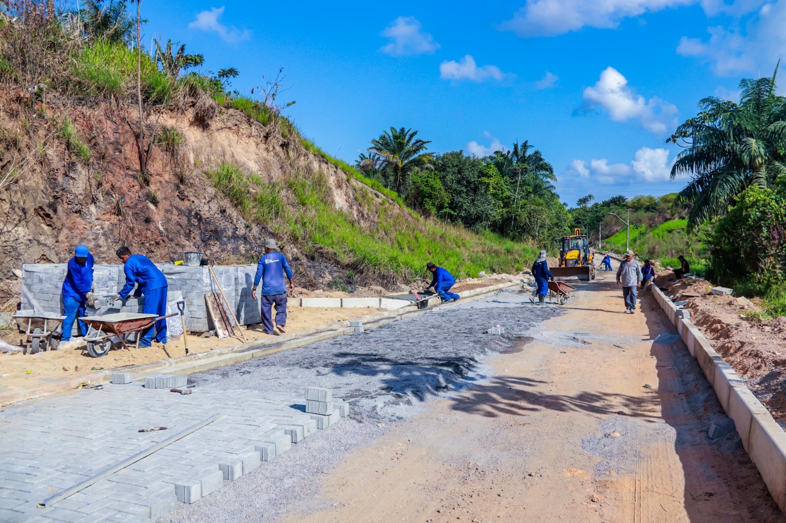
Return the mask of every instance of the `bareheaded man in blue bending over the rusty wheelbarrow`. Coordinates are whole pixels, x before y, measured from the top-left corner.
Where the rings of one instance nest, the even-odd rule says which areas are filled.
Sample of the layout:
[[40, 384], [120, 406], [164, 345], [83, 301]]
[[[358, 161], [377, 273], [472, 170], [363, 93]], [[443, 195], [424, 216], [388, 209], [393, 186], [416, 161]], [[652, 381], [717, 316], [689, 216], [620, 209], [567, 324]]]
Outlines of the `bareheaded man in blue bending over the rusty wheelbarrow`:
[[[167, 278], [163, 276], [156, 265], [147, 256], [131, 254], [128, 247], [120, 247], [116, 251], [117, 257], [123, 262], [123, 272], [126, 273], [126, 284], [119, 293], [112, 296], [112, 301], [124, 300], [134, 290], [134, 297], [139, 298], [144, 294], [145, 302], [142, 304], [142, 313], [167, 315]], [[167, 342], [167, 320], [158, 320], [155, 324], [142, 331], [139, 346], [151, 345], [153, 329], [156, 331], [156, 342]]]

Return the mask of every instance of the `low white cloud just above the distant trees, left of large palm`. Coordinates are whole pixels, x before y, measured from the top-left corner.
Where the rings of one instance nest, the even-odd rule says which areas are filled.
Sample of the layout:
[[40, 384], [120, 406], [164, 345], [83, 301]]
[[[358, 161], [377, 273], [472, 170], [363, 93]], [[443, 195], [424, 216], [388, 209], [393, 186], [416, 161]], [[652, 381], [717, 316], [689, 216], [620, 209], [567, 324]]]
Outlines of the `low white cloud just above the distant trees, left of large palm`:
[[601, 185], [630, 185], [633, 181], [662, 183], [670, 181], [671, 166], [675, 159], [669, 159], [669, 151], [663, 148], [642, 147], [628, 163], [609, 164], [608, 159], [591, 159], [589, 166], [585, 160], [575, 159], [567, 169], [568, 176], [587, 178], [588, 182]]

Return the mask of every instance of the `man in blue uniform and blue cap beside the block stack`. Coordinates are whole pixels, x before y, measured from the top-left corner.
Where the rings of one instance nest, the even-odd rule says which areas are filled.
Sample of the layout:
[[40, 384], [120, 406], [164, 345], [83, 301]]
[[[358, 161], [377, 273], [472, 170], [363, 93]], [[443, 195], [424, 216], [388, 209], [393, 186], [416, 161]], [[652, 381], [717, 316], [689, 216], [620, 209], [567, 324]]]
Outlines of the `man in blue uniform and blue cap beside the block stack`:
[[[77, 245], [74, 249], [74, 257], [68, 260], [68, 272], [63, 282], [65, 320], [63, 320], [61, 342], [71, 341], [74, 320], [79, 316], [85, 316], [86, 305], [92, 306], [95, 302], [93, 297], [93, 263], [93, 254], [90, 254], [84, 245]], [[87, 324], [79, 320], [77, 325], [79, 334], [86, 335]]]

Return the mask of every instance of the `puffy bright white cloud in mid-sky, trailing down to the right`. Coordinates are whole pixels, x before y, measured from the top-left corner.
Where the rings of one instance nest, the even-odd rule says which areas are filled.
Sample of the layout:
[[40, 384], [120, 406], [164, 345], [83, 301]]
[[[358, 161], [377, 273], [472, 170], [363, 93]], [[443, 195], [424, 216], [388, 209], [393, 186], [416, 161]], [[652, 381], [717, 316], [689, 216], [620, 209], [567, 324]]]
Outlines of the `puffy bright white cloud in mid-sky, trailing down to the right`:
[[601, 72], [601, 79], [594, 86], [584, 90], [584, 103], [586, 108], [604, 108], [615, 122], [638, 119], [645, 130], [656, 134], [667, 133], [677, 125], [677, 108], [673, 104], [658, 97], [645, 100], [612, 67]]

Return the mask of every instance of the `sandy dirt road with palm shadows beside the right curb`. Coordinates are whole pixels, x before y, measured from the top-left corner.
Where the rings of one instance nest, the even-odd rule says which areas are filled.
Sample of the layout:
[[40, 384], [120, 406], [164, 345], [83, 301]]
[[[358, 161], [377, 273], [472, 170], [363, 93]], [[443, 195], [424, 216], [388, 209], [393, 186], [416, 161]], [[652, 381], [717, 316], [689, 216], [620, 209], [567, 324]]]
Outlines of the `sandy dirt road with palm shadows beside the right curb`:
[[318, 474], [286, 521], [784, 521], [736, 432], [707, 437], [729, 419], [641, 295], [630, 316], [612, 277], [585, 284], [485, 384]]

